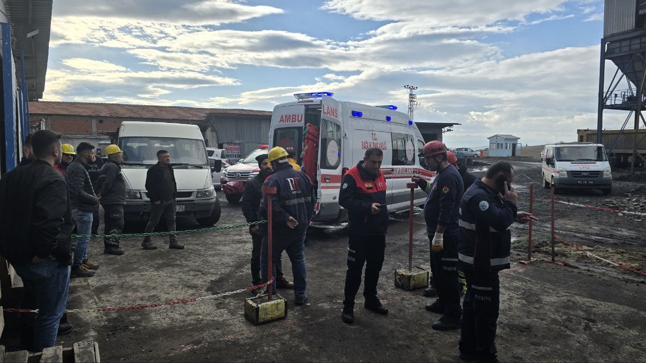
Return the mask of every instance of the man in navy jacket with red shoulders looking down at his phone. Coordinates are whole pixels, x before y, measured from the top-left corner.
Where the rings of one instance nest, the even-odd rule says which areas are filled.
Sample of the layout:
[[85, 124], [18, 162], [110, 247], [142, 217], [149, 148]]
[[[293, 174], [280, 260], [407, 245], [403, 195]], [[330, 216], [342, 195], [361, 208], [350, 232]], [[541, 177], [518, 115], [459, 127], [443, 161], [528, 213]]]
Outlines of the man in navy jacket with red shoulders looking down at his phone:
[[355, 321], [355, 297], [361, 285], [364, 262], [364, 307], [386, 315], [388, 308], [377, 297], [379, 272], [384, 263], [388, 207], [386, 206], [386, 179], [380, 172], [384, 153], [379, 148], [366, 150], [364, 159], [353, 166], [341, 181], [339, 204], [348, 210], [348, 271], [346, 272], [345, 300], [341, 320]]

